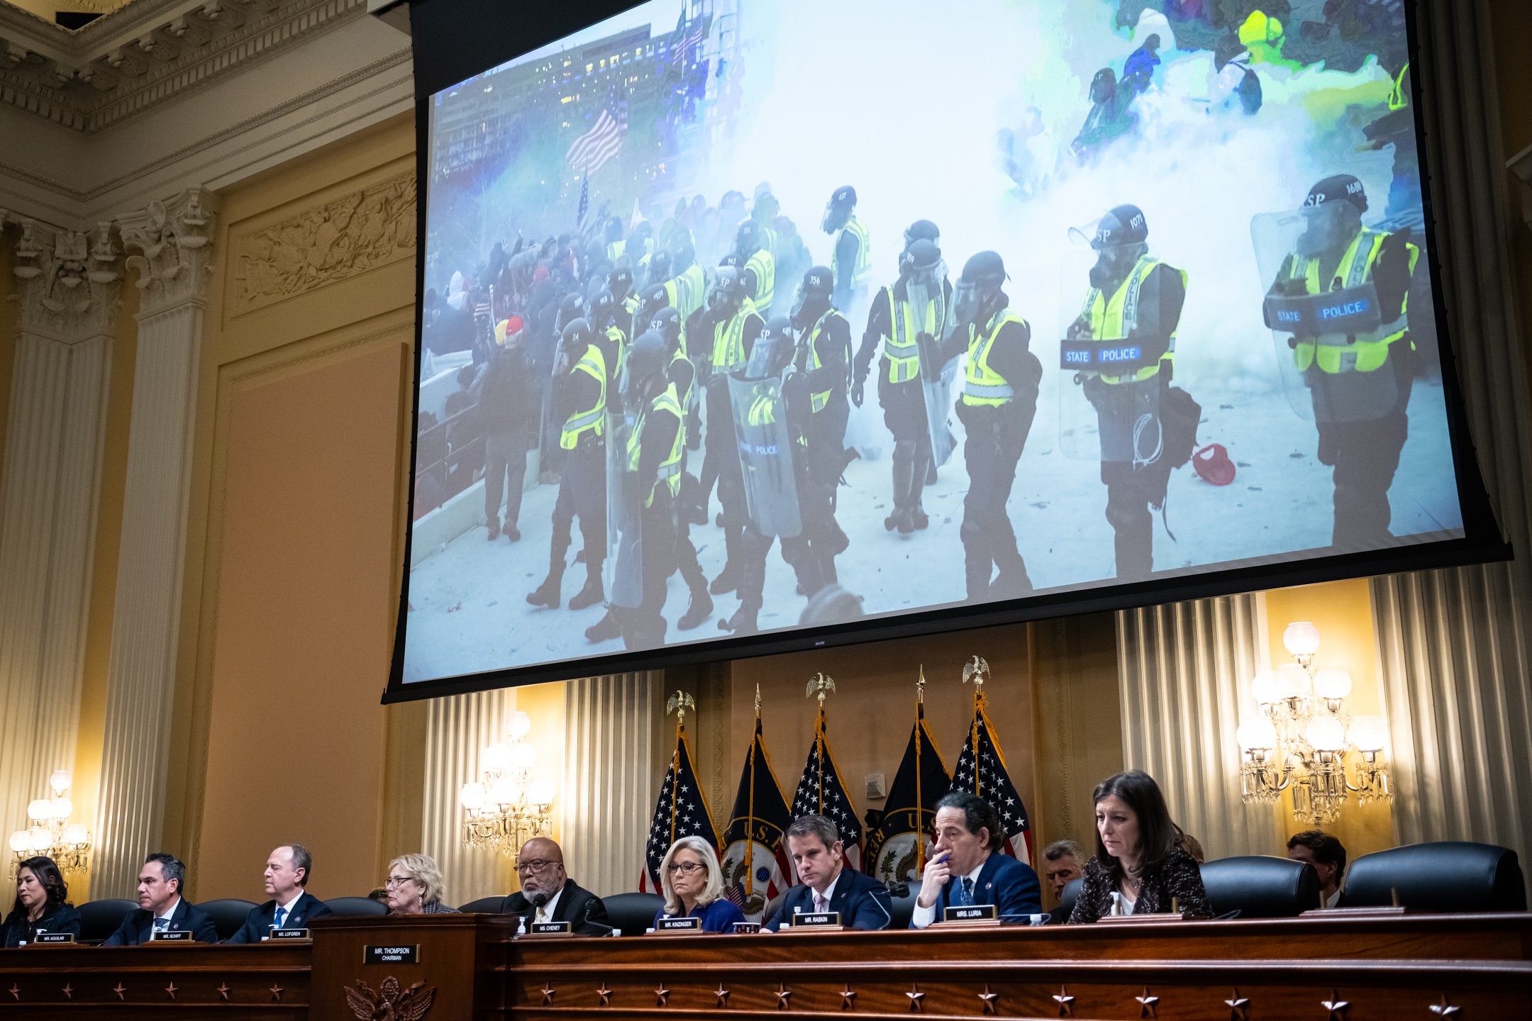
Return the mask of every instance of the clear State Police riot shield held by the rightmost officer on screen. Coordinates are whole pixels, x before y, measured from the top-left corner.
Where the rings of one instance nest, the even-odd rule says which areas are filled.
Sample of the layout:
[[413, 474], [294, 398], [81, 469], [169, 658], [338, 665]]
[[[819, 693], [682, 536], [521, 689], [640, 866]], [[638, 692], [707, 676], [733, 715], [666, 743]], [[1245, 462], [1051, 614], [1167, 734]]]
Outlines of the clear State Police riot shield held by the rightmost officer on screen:
[[1348, 202], [1250, 220], [1282, 392], [1310, 421], [1370, 421], [1399, 398], [1386, 354], [1370, 347], [1382, 318], [1377, 289], [1363, 279], [1368, 246], [1353, 243], [1359, 230]]

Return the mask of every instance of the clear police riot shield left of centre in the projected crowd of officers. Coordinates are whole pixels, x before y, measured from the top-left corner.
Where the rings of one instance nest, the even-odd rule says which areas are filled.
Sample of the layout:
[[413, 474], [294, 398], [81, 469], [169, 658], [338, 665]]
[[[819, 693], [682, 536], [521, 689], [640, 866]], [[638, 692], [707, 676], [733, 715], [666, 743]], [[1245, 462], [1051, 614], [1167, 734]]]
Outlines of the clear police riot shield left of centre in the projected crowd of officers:
[[792, 470], [792, 432], [781, 377], [743, 380], [729, 375], [729, 407], [745, 473], [745, 507], [766, 537], [803, 533], [798, 479]]

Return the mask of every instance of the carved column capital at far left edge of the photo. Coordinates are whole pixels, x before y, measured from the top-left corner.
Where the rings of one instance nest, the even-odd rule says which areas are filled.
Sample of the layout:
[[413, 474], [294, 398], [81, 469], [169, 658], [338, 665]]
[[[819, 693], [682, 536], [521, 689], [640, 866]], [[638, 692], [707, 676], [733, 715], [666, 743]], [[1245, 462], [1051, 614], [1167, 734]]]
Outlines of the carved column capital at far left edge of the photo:
[[84, 234], [31, 219], [12, 222], [21, 228], [11, 269], [21, 329], [64, 343], [113, 332], [123, 306], [123, 260], [112, 225], [97, 223], [95, 231]]

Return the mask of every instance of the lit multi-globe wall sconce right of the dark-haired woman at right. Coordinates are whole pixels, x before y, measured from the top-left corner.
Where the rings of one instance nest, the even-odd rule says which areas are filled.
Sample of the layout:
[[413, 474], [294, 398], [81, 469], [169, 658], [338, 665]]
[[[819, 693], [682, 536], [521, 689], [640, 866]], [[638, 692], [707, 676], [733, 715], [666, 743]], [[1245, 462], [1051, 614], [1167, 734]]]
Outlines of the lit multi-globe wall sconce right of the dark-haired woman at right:
[[[1314, 667], [1319, 629], [1311, 623], [1288, 625], [1282, 644], [1295, 661], [1256, 674], [1250, 690], [1259, 713], [1236, 733], [1242, 799], [1270, 804], [1291, 790], [1293, 819], [1314, 827], [1339, 817], [1350, 794], [1359, 805], [1391, 802], [1382, 716], [1353, 719], [1342, 709], [1351, 674]], [[1347, 749], [1360, 756], [1354, 779], [1342, 761]]]

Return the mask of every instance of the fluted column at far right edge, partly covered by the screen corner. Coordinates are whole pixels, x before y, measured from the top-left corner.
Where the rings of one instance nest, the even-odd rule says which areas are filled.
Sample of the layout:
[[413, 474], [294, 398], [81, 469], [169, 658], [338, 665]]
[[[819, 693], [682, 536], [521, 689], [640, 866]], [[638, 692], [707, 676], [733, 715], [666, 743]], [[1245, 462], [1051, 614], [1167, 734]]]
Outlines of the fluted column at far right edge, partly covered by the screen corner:
[[[1481, 0], [1419, 6], [1432, 211], [1455, 364], [1509, 563], [1373, 579], [1402, 843], [1532, 854], [1532, 409], [1520, 351], [1494, 47]], [[1469, 450], [1460, 452], [1471, 456]]]

